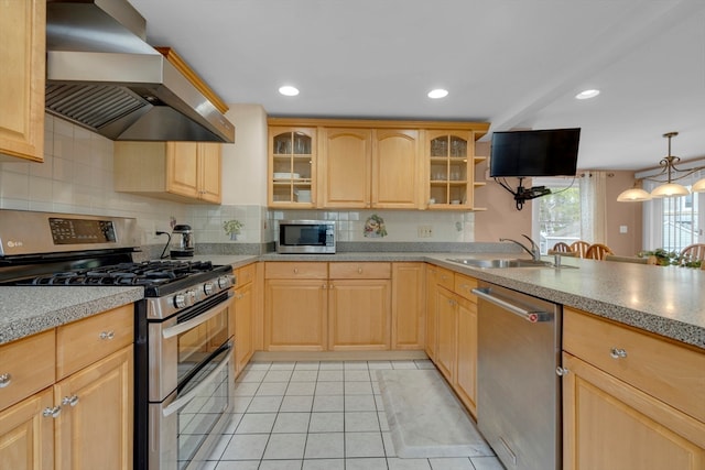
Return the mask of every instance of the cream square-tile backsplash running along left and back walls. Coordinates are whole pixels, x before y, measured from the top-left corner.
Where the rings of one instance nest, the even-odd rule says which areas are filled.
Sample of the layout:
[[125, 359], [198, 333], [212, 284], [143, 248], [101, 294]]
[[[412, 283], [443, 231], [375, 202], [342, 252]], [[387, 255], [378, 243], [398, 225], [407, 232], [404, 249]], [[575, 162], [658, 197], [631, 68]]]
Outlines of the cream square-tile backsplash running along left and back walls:
[[[164, 237], [154, 232], [171, 231], [172, 218], [193, 227], [196, 243], [271, 243], [276, 221], [291, 218], [336, 220], [340, 242], [474, 241], [473, 212], [284, 211], [256, 205], [188, 205], [116, 193], [112, 141], [51, 114], [45, 114], [44, 132], [44, 163], [0, 163], [0, 208], [135, 217], [143, 245], [165, 243]], [[372, 215], [383, 219], [386, 237], [365, 237], [365, 222]], [[223, 228], [234, 219], [243, 225], [237, 240]]]

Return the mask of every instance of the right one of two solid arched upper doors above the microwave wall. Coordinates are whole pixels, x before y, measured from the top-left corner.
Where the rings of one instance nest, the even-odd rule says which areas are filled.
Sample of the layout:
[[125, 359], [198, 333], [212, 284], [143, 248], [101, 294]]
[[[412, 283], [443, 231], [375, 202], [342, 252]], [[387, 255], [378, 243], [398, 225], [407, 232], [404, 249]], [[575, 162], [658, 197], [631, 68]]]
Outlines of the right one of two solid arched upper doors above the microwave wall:
[[372, 207], [417, 208], [423, 197], [419, 131], [379, 129], [372, 138]]

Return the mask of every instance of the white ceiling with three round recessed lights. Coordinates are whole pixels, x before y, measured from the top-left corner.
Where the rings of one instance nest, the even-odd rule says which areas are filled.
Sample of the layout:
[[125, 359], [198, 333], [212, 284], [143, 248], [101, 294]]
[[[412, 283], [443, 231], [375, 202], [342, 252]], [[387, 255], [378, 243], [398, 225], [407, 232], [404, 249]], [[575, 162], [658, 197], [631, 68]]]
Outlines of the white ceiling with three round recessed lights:
[[[703, 0], [130, 0], [229, 103], [270, 116], [581, 127], [578, 167], [705, 157]], [[281, 85], [301, 89], [278, 94]], [[449, 95], [431, 100], [443, 87]], [[592, 100], [575, 94], [599, 88]], [[488, 139], [488, 138], [485, 138]]]

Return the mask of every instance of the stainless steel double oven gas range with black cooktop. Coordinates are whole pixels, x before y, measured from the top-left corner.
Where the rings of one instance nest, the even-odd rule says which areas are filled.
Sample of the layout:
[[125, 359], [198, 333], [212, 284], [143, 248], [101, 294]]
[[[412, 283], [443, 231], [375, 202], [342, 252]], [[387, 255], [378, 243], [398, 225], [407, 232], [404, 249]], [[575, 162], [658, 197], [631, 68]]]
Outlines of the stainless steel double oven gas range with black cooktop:
[[0, 210], [0, 284], [141, 286], [134, 468], [197, 468], [232, 408], [232, 269], [134, 262], [139, 241], [131, 218]]

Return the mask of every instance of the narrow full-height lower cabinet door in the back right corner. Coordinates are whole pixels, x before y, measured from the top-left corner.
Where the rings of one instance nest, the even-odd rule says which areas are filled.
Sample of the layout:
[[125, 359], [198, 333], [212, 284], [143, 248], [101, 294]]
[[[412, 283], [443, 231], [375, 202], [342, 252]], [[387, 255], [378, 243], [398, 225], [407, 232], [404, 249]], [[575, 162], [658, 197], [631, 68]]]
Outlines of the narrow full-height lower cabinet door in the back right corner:
[[423, 263], [392, 265], [392, 349], [424, 349]]

